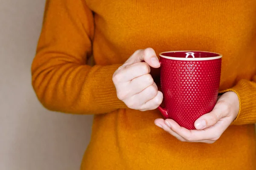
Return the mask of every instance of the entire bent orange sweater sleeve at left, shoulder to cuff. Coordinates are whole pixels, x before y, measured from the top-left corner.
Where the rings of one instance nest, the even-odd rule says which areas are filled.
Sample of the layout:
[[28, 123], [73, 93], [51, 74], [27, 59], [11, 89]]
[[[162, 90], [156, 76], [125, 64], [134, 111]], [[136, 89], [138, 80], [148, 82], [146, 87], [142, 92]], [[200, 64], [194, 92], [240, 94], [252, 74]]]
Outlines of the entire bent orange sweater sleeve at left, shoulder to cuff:
[[47, 0], [35, 58], [32, 86], [51, 111], [108, 113], [125, 104], [112, 82], [121, 65], [86, 65], [92, 54], [93, 12], [84, 0]]

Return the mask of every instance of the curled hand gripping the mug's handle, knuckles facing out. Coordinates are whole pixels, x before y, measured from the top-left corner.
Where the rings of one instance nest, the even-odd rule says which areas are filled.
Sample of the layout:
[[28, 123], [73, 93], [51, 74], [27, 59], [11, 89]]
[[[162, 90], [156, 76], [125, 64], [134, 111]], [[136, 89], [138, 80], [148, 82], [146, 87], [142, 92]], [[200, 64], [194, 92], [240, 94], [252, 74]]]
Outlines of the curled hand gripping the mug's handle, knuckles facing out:
[[156, 109], [162, 103], [163, 94], [158, 91], [156, 83], [149, 74], [149, 66], [160, 67], [152, 48], [135, 51], [113, 74], [117, 97], [128, 108], [148, 111]]

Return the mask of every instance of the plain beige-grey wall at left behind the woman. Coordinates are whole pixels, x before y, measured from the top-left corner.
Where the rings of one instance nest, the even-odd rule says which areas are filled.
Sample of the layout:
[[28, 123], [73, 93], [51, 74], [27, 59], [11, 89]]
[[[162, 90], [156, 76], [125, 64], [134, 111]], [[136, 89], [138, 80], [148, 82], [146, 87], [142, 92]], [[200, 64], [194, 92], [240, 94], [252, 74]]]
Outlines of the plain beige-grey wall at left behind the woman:
[[92, 116], [53, 113], [31, 86], [45, 0], [0, 0], [0, 170], [79, 170]]

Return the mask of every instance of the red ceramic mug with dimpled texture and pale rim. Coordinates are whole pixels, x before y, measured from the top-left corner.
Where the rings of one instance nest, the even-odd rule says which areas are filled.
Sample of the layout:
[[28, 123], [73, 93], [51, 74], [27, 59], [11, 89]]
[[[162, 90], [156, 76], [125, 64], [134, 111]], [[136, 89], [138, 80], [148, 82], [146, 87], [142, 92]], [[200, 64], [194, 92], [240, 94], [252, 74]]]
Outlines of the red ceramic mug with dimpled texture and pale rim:
[[165, 119], [195, 129], [195, 121], [214, 108], [221, 77], [221, 54], [168, 51], [160, 55], [160, 83]]

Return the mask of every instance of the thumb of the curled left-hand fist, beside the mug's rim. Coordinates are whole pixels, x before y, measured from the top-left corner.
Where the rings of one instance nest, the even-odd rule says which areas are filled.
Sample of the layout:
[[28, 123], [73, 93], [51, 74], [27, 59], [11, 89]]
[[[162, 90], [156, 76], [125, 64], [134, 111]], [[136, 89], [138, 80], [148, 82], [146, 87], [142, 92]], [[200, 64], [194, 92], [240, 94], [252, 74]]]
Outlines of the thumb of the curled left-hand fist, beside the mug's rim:
[[142, 61], [145, 61], [149, 66], [153, 68], [160, 67], [159, 60], [153, 48], [145, 48], [143, 50], [135, 51], [124, 65], [131, 65]]

